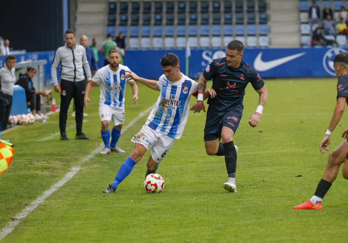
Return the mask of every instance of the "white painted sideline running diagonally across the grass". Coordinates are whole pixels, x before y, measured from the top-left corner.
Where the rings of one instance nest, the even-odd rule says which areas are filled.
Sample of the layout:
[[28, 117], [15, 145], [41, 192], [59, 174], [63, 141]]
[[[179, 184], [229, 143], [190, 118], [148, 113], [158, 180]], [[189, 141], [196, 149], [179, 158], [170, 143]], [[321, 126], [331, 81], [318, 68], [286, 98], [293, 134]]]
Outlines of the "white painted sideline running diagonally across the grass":
[[[150, 106], [147, 110], [140, 112], [139, 115], [137, 117], [135, 117], [133, 120], [131, 120], [127, 126], [125, 126], [124, 128], [122, 128], [121, 130], [121, 134], [124, 133], [125, 131], [127, 131], [127, 129], [131, 126], [133, 126], [139, 119], [141, 119], [144, 115], [148, 114], [148, 112], [150, 110], [152, 110], [152, 108], [156, 105], [153, 104], [152, 106]], [[51, 186], [51, 188], [49, 188], [48, 190], [46, 190], [44, 192], [44, 194], [42, 194], [41, 196], [39, 196], [35, 201], [33, 201], [32, 203], [29, 204], [28, 207], [26, 207], [25, 209], [23, 209], [20, 213], [18, 213], [15, 217], [13, 217], [14, 221], [9, 221], [5, 227], [3, 227], [0, 230], [0, 241], [5, 238], [8, 234], [10, 234], [15, 227], [21, 223], [21, 221], [27, 217], [32, 211], [34, 211], [35, 208], [37, 208], [39, 206], [39, 204], [43, 201], [45, 201], [46, 198], [48, 198], [52, 193], [54, 193], [55, 191], [57, 191], [61, 186], [63, 186], [66, 182], [68, 182], [76, 173], [79, 172], [79, 170], [81, 169], [80, 165], [84, 164], [85, 162], [87, 162], [88, 160], [92, 159], [96, 153], [100, 152], [102, 150], [102, 148], [104, 147], [104, 144], [101, 143], [99, 144], [98, 148], [96, 148], [92, 153], [90, 153], [87, 157], [83, 158], [79, 163], [78, 163], [78, 167], [72, 167], [72, 169], [65, 174], [65, 176], [63, 177], [63, 179], [61, 179], [60, 181], [58, 181], [57, 183], [55, 183], [53, 186]]]

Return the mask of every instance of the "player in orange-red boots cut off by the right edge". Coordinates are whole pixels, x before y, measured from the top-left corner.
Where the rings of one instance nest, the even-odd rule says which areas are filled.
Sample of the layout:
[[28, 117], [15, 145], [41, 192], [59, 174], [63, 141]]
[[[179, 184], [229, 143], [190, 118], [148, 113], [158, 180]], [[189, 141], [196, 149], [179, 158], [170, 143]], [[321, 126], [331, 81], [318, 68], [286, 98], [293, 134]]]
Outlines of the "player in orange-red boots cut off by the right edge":
[[[333, 111], [333, 115], [327, 129], [325, 136], [320, 143], [319, 149], [321, 153], [325, 153], [324, 150], [329, 151], [327, 146], [330, 144], [330, 136], [339, 123], [346, 103], [348, 104], [348, 52], [342, 52], [337, 54], [333, 58], [333, 68], [335, 69], [337, 82], [337, 103]], [[344, 162], [342, 174], [343, 177], [348, 179], [348, 127], [343, 131], [342, 137], [345, 138], [329, 155], [326, 169], [319, 181], [317, 189], [310, 200], [302, 203], [293, 209], [322, 209], [322, 201], [329, 191], [332, 182], [336, 179], [341, 164]]]

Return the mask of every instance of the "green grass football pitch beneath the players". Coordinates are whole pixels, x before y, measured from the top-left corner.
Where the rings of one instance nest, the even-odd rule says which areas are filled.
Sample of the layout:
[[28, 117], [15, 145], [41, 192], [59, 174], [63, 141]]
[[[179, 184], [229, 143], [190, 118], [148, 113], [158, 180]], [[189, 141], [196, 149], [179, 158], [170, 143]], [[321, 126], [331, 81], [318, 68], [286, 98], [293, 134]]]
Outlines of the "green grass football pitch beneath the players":
[[[291, 209], [313, 195], [325, 169], [328, 153], [320, 154], [319, 144], [335, 107], [337, 79], [265, 82], [268, 100], [255, 128], [248, 125], [248, 119], [259, 98], [251, 85], [246, 89], [244, 115], [234, 137], [239, 147], [237, 193], [223, 189], [227, 180], [224, 158], [205, 153], [205, 114], [190, 112], [183, 136], [157, 171], [165, 179], [162, 193], [148, 194], [143, 188], [148, 152], [116, 193], [103, 194], [132, 151], [130, 139], [144, 124], [145, 115], [120, 137], [118, 145], [126, 154], [96, 154], [81, 164], [69, 182], [2, 242], [346, 241], [348, 182], [341, 173], [324, 198], [323, 210]], [[124, 126], [157, 100], [157, 91], [138, 85], [138, 106], [132, 103], [127, 87]], [[35, 122], [1, 135], [15, 144], [15, 156], [0, 175], [0, 230], [102, 142], [99, 93], [94, 87], [86, 110], [89, 115], [84, 117], [88, 141], [74, 140], [71, 110], [69, 141], [52, 135], [59, 132], [58, 114], [51, 115], [46, 124]], [[342, 141], [347, 116], [343, 114], [332, 135], [331, 150]]]

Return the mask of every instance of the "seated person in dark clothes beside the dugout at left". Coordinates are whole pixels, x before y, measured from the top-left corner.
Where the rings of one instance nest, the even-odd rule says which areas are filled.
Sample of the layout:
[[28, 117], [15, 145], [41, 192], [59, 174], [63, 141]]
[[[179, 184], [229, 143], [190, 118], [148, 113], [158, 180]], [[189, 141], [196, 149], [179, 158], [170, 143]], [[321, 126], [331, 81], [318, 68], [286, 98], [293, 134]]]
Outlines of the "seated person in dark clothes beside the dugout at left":
[[31, 109], [31, 113], [35, 116], [35, 119], [39, 120], [44, 118], [44, 114], [41, 114], [40, 95], [46, 96], [46, 91], [35, 90], [32, 79], [36, 74], [34, 67], [28, 67], [26, 74], [22, 75], [15, 85], [20, 85], [25, 89], [25, 96], [27, 107]]

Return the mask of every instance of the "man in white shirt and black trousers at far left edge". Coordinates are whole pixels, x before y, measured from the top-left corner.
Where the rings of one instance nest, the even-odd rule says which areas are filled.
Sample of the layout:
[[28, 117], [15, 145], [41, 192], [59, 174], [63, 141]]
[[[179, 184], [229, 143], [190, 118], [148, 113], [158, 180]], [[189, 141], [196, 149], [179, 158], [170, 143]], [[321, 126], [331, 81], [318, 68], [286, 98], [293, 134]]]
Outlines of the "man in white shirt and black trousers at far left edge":
[[15, 56], [9, 55], [0, 68], [0, 131], [5, 130], [12, 107], [13, 86], [16, 83]]

